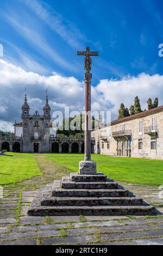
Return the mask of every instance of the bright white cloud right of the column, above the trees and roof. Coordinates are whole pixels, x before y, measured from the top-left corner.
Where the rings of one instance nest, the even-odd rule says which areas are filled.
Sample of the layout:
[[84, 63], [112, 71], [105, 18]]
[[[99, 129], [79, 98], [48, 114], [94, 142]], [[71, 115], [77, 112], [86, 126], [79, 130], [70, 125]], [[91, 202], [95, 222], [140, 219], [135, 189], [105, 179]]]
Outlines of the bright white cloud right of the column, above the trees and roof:
[[117, 117], [120, 103], [126, 107], [134, 103], [134, 97], [139, 96], [142, 110], [147, 108], [149, 97], [159, 97], [159, 105], [163, 105], [160, 95], [163, 93], [163, 76], [140, 74], [139, 76], [128, 76], [122, 80], [101, 80], [96, 87], [97, 93], [101, 94], [103, 105], [110, 106], [112, 118]]

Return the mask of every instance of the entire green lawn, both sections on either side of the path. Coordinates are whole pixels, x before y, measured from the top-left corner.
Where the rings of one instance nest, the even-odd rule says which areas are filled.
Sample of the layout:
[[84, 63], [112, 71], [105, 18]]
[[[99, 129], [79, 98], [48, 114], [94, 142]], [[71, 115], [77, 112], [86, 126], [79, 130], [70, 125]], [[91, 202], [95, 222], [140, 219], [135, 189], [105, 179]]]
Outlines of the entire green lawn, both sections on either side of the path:
[[[35, 162], [34, 156], [37, 155], [20, 153], [7, 153], [7, 155], [10, 156], [0, 156], [0, 185], [21, 182], [41, 175]], [[47, 156], [73, 172], [78, 172], [79, 161], [84, 159], [83, 154], [39, 154], [39, 156]], [[96, 161], [98, 172], [103, 172], [114, 180], [148, 185], [163, 184], [163, 161], [104, 155], [92, 155], [92, 160]]]

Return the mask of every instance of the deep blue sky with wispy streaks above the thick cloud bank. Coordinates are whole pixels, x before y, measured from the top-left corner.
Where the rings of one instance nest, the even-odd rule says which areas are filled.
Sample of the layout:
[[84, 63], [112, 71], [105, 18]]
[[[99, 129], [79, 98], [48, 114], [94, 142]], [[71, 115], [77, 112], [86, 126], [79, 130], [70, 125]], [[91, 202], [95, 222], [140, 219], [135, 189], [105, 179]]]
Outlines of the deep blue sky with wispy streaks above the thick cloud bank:
[[28, 71], [83, 80], [83, 58], [76, 52], [88, 45], [99, 51], [92, 64], [95, 84], [141, 72], [162, 74], [161, 0], [5, 0], [0, 10], [4, 57]]

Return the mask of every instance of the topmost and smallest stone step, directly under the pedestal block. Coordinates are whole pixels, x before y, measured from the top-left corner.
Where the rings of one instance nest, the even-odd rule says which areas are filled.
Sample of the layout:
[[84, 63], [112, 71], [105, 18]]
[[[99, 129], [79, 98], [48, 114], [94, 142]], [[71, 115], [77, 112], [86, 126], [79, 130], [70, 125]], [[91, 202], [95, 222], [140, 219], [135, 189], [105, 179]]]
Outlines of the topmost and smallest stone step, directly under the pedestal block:
[[103, 173], [97, 173], [96, 175], [70, 174], [70, 180], [75, 182], [105, 182], [106, 178], [106, 175]]

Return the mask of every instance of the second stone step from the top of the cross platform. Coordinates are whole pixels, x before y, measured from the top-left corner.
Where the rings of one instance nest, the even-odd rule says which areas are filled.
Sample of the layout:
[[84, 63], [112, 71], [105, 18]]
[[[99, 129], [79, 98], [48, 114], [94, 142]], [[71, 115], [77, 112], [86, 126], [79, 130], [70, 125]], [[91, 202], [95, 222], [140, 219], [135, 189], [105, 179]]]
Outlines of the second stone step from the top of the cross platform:
[[118, 188], [117, 182], [74, 182], [69, 177], [62, 177], [61, 188], [64, 189], [115, 189]]

